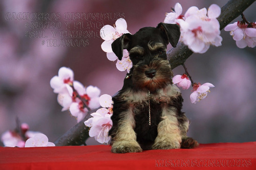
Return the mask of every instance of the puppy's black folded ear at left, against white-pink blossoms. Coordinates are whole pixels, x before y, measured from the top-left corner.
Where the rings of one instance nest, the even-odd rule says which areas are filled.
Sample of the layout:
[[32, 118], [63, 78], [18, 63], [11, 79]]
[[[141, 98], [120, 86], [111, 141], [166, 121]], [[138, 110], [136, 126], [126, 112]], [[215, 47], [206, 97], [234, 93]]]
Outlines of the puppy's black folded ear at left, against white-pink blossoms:
[[126, 33], [112, 42], [112, 51], [115, 53], [119, 60], [121, 60], [123, 57], [123, 49], [129, 48], [129, 42], [131, 39], [132, 34]]

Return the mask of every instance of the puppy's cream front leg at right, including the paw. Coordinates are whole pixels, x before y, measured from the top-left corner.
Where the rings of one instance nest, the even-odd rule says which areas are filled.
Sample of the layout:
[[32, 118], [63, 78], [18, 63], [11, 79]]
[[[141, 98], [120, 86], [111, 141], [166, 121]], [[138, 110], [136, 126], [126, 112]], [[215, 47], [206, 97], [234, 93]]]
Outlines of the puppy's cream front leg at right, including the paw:
[[157, 127], [158, 135], [152, 149], [178, 149], [180, 148], [181, 135], [175, 107], [164, 107], [162, 121]]

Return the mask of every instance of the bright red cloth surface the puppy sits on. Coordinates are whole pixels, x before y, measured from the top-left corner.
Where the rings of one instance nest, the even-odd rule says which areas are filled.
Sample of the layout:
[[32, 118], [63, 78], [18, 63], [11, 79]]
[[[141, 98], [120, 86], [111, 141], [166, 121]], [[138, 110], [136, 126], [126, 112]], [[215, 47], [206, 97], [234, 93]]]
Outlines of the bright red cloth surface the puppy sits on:
[[113, 154], [109, 145], [4, 148], [0, 169], [256, 169], [256, 142]]

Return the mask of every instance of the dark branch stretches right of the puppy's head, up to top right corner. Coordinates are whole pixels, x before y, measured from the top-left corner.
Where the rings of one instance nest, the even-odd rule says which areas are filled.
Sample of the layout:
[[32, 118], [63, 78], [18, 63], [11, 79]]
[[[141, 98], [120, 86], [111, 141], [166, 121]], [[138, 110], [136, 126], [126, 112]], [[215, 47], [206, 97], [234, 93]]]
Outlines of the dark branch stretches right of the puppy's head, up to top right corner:
[[[221, 14], [217, 18], [220, 22], [220, 30], [228, 25], [233, 19], [236, 19], [243, 11], [248, 8], [255, 0], [230, 0], [221, 8]], [[182, 65], [193, 52], [189, 48], [179, 42], [176, 48], [172, 48], [167, 52], [167, 57], [172, 69]]]

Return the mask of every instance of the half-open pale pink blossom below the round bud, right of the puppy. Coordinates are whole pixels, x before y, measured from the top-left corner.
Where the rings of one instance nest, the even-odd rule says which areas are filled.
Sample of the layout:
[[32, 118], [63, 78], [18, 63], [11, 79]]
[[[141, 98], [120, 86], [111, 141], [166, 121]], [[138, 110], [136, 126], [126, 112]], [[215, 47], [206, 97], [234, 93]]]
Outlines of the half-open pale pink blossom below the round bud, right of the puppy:
[[215, 87], [211, 83], [195, 83], [193, 84], [193, 93], [190, 94], [190, 101], [191, 103], [197, 103], [200, 102], [202, 99], [206, 98], [208, 92], [210, 92], [209, 88]]

